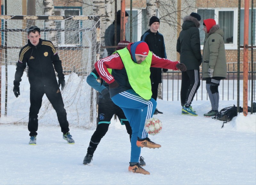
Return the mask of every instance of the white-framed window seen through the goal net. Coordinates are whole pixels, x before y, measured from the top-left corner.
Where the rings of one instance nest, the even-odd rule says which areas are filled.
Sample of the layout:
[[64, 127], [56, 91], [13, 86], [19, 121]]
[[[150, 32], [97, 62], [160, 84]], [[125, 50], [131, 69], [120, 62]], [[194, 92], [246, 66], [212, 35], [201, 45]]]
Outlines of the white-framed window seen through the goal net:
[[[81, 15], [81, 9], [77, 8], [56, 8], [55, 7], [55, 15], [60, 16], [76, 16]], [[56, 28], [57, 29], [74, 29], [80, 27], [80, 21], [79, 20], [62, 20], [62, 21], [56, 21]], [[80, 34], [74, 31], [64, 31], [64, 32], [58, 32], [56, 35], [58, 40], [58, 45], [65, 45], [65, 46], [77, 46], [80, 45]]]

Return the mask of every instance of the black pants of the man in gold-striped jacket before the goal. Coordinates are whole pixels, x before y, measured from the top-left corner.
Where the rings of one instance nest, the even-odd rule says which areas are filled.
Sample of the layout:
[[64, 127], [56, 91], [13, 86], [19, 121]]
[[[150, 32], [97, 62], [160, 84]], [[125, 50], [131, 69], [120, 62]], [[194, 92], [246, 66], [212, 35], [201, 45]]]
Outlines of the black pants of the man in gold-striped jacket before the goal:
[[38, 129], [38, 113], [42, 106], [42, 99], [44, 94], [52, 104], [52, 107], [57, 113], [58, 121], [60, 123], [61, 132], [66, 134], [69, 131], [67, 113], [64, 108], [64, 103], [58, 87], [30, 87], [30, 108], [28, 130], [29, 136], [36, 136]]

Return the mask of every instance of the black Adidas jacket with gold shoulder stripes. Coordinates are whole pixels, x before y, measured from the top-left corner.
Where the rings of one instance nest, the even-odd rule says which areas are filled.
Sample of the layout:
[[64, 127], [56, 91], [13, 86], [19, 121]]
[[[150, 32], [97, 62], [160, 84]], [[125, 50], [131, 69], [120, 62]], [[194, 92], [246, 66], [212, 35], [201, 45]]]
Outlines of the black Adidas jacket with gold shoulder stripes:
[[58, 87], [55, 71], [59, 79], [64, 79], [61, 60], [51, 41], [39, 40], [37, 46], [28, 44], [20, 50], [13, 84], [20, 85], [24, 69], [28, 65], [28, 80], [31, 87]]

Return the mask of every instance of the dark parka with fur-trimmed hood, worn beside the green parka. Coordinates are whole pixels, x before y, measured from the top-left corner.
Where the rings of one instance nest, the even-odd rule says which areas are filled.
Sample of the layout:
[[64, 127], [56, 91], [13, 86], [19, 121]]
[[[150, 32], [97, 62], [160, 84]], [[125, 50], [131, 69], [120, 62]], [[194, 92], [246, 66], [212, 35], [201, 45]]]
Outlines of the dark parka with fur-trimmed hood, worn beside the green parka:
[[176, 50], [180, 53], [180, 63], [184, 63], [187, 70], [199, 70], [202, 63], [202, 54], [200, 48], [199, 21], [186, 16], [182, 24]]

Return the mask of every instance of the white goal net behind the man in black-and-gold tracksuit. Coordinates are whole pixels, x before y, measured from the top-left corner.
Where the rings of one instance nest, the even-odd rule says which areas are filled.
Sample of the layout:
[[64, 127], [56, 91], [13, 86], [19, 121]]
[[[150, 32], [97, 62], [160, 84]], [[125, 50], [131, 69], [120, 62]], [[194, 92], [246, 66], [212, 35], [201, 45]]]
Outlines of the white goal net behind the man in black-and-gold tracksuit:
[[[66, 86], [61, 91], [69, 125], [91, 128], [96, 125], [96, 92], [87, 75], [100, 56], [100, 18], [98, 16], [0, 16], [1, 17], [1, 117], [0, 124], [27, 124], [30, 107], [28, 66], [20, 82], [20, 96], [13, 94], [13, 80], [20, 49], [28, 43], [27, 28], [38, 26], [41, 39], [54, 44]], [[57, 73], [56, 73], [56, 78]], [[39, 125], [59, 126], [57, 115], [44, 95], [38, 114]]]

